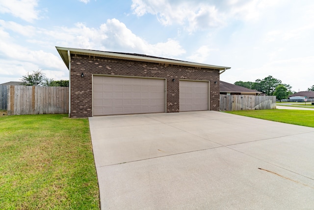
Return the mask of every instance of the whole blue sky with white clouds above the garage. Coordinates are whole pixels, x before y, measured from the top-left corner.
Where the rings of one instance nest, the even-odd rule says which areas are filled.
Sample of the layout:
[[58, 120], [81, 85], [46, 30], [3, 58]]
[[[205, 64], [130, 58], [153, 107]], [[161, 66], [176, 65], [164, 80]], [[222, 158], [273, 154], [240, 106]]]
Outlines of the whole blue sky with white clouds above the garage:
[[68, 79], [55, 46], [230, 66], [314, 85], [313, 0], [0, 0], [0, 84], [33, 70]]

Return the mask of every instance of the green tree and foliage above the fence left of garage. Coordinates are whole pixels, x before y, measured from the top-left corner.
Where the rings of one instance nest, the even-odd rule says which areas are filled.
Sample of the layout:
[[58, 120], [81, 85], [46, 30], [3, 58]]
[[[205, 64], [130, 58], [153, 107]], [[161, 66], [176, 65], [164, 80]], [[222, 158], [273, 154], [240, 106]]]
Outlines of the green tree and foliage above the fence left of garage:
[[32, 73], [27, 72], [27, 74], [22, 77], [21, 81], [26, 86], [69, 87], [69, 80], [49, 79], [40, 69]]

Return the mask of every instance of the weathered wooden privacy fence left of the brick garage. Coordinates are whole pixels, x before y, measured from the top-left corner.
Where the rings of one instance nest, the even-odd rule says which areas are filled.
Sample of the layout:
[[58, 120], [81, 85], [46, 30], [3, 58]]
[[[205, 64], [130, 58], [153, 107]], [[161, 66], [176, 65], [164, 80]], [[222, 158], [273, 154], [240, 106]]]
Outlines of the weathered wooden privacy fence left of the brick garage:
[[[8, 115], [66, 114], [69, 112], [69, 87], [4, 87], [7, 93]], [[2, 95], [1, 92], [0, 95]]]

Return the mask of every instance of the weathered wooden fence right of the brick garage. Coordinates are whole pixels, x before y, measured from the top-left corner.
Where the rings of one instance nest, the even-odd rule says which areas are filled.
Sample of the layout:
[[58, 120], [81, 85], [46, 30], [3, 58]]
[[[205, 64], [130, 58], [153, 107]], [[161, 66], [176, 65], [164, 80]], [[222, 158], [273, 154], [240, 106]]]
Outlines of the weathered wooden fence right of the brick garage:
[[276, 96], [220, 95], [221, 111], [276, 109]]

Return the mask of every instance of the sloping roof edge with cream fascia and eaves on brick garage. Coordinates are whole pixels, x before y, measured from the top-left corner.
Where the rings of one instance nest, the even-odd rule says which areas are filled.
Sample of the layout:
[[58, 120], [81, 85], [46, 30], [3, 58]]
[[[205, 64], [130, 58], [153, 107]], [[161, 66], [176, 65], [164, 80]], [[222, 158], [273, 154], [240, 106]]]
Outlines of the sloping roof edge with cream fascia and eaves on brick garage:
[[101, 56], [106, 58], [113, 59], [124, 59], [124, 60], [136, 60], [136, 61], [144, 61], [144, 62], [155, 62], [162, 64], [173, 64], [173, 65], [183, 65], [183, 66], [192, 66], [199, 68], [210, 68], [210, 69], [218, 69], [220, 71], [224, 71], [226, 69], [230, 69], [231, 67], [226, 66], [217, 66], [217, 65], [209, 65], [203, 63], [196, 62], [188, 62], [183, 60], [174, 60], [174, 59], [165, 59], [154, 56], [147, 56], [141, 54], [132, 54], [132, 53], [116, 53], [116, 52], [105, 52], [105, 51], [97, 51], [97, 50], [86, 50], [86, 49], [77, 49], [77, 48], [64, 48], [64, 47], [55, 47], [60, 54], [63, 62], [69, 69], [69, 55], [71, 54], [80, 54], [87, 56]]

